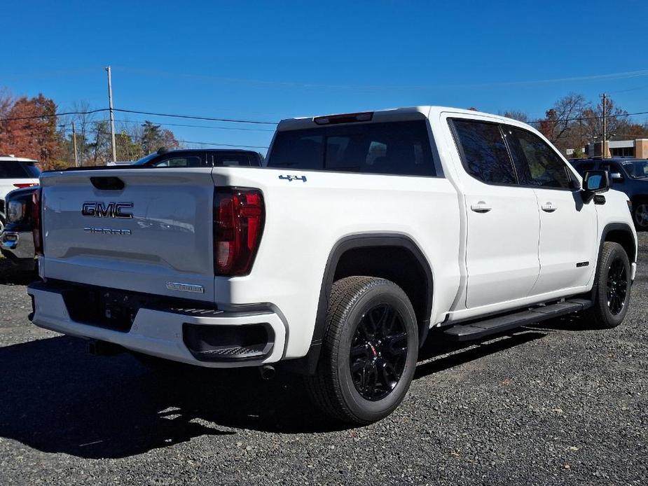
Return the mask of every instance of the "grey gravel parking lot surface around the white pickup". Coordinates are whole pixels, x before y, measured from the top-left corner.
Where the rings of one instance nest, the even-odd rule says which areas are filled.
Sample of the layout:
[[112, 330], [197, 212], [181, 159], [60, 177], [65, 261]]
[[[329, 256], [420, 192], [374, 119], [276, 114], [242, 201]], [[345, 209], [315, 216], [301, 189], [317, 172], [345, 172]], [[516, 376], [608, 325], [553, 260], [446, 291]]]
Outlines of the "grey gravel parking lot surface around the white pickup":
[[0, 260], [0, 484], [648, 484], [648, 237], [623, 326], [429, 346], [392, 416], [327, 422], [301, 382], [168, 376], [27, 320]]

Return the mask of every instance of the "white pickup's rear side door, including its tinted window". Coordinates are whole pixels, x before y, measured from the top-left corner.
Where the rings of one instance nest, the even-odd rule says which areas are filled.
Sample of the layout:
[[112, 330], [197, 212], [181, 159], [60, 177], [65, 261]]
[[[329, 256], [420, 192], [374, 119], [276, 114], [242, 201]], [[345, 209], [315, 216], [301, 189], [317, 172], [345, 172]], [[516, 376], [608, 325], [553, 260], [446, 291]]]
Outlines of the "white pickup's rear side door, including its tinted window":
[[539, 209], [532, 188], [518, 185], [499, 124], [450, 120], [464, 173], [469, 308], [530, 295], [538, 278]]

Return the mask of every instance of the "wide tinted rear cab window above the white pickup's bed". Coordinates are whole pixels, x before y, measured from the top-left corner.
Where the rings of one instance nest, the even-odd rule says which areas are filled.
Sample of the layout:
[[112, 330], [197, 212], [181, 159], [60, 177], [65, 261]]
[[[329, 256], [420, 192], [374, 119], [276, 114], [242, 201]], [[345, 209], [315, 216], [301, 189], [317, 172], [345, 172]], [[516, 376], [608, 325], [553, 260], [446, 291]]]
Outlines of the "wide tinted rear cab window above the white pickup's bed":
[[426, 120], [280, 131], [267, 167], [436, 176]]

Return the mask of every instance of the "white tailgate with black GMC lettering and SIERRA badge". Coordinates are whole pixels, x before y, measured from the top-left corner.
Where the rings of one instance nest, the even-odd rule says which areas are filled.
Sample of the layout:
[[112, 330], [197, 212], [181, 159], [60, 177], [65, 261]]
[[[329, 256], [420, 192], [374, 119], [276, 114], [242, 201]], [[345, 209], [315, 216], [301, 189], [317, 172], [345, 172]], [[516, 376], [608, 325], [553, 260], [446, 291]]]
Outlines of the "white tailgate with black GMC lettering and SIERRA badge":
[[43, 174], [41, 276], [213, 302], [211, 172]]

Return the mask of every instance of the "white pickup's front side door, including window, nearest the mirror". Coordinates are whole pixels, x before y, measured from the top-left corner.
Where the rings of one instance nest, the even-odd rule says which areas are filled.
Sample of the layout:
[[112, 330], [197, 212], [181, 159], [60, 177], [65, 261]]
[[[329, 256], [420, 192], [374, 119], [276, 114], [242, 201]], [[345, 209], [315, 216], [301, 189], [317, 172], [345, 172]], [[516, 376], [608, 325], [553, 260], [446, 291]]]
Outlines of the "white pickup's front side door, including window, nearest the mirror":
[[540, 295], [585, 286], [598, 252], [595, 203], [584, 204], [580, 184], [556, 150], [528, 130], [502, 125], [520, 183], [533, 188], [540, 214]]

